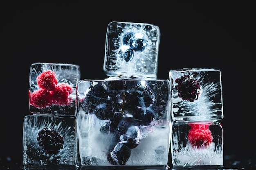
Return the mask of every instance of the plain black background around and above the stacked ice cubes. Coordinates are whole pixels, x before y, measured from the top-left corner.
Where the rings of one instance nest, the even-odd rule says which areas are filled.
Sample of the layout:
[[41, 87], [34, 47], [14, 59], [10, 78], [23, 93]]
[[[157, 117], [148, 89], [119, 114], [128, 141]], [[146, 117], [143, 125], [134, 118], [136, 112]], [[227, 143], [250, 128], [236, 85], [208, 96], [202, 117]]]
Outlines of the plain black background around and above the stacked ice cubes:
[[31, 63], [73, 63], [80, 65], [81, 79], [106, 78], [105, 39], [108, 23], [112, 21], [159, 26], [157, 78], [168, 78], [170, 69], [220, 69], [224, 159], [238, 163], [255, 160], [252, 3], [10, 0], [0, 6], [3, 93], [0, 165], [22, 164], [23, 118], [31, 114], [28, 107]]

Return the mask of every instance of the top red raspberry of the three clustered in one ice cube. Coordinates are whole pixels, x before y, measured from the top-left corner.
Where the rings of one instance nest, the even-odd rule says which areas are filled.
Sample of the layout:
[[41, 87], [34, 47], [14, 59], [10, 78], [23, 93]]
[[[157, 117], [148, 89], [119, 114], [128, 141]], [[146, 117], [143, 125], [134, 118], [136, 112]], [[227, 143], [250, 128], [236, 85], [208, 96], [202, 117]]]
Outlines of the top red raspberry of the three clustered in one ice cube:
[[58, 83], [56, 73], [52, 70], [42, 72], [39, 76], [37, 76], [36, 81], [40, 88], [48, 91], [54, 90]]

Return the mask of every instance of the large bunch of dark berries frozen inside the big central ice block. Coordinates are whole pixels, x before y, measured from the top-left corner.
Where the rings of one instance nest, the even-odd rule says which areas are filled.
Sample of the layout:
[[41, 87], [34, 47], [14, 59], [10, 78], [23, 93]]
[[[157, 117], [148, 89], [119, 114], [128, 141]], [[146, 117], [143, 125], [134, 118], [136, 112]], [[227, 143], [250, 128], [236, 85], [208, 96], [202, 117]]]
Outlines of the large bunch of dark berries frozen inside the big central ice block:
[[155, 95], [148, 85], [134, 81], [108, 81], [92, 85], [81, 107], [100, 120], [100, 131], [111, 136], [106, 146], [107, 159], [113, 165], [125, 165], [131, 149], [138, 146], [139, 128], [155, 120], [155, 114], [147, 109], [153, 105]]

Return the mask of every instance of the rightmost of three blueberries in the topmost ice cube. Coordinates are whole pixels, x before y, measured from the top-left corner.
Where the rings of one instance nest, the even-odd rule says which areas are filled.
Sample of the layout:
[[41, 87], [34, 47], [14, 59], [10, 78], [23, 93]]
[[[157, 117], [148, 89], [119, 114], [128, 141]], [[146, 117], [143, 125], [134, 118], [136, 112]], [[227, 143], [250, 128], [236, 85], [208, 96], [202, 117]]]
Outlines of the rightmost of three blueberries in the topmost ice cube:
[[134, 51], [143, 51], [147, 46], [147, 37], [142, 33], [135, 33], [130, 39], [128, 44]]

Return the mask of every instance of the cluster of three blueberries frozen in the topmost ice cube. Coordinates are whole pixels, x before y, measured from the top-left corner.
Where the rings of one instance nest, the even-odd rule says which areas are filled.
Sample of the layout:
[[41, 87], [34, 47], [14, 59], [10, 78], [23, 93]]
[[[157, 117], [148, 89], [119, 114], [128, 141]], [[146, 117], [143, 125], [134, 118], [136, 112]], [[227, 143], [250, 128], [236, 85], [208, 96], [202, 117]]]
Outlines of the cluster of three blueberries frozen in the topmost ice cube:
[[122, 45], [119, 47], [117, 54], [121, 59], [128, 62], [133, 58], [135, 51], [145, 50], [147, 42], [145, 34], [128, 30], [121, 34]]

